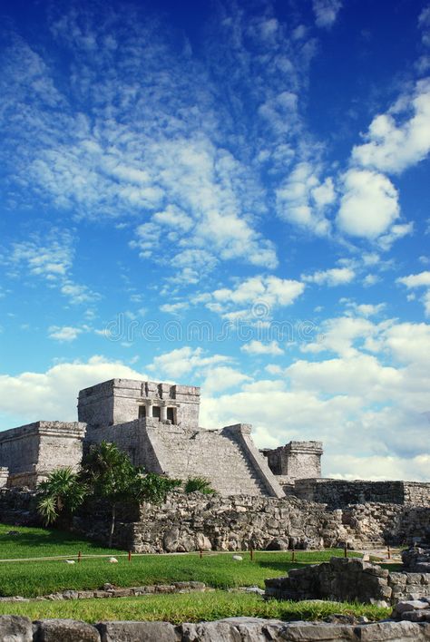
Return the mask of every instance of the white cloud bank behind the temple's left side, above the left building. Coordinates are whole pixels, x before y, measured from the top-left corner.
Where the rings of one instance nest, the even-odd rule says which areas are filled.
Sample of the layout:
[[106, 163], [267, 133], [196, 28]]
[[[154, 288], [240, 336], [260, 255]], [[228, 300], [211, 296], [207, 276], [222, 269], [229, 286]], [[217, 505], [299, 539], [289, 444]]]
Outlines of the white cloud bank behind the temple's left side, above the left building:
[[[57, 364], [45, 373], [0, 375], [0, 412], [15, 417], [19, 413], [18, 421], [22, 423], [38, 419], [76, 421], [78, 391], [114, 377], [146, 378], [121, 361], [103, 356], [93, 356], [87, 362]], [[13, 426], [4, 420], [3, 427]]]

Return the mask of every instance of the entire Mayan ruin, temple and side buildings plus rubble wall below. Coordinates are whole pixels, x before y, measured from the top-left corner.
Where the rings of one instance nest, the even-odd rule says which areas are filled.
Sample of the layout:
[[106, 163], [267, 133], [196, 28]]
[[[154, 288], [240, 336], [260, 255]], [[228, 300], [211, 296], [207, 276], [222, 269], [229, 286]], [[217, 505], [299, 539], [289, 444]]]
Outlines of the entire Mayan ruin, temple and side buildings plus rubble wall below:
[[[322, 443], [259, 451], [249, 423], [205, 429], [199, 410], [198, 387], [112, 379], [79, 393], [78, 422], [0, 433], [0, 520], [36, 523], [37, 484], [56, 468], [77, 469], [104, 440], [148, 472], [202, 476], [217, 491], [175, 491], [161, 506], [124, 513], [113, 542], [126, 550], [360, 550], [430, 539], [430, 483], [326, 479]], [[73, 529], [103, 541], [106, 515], [97, 506], [78, 511]]]

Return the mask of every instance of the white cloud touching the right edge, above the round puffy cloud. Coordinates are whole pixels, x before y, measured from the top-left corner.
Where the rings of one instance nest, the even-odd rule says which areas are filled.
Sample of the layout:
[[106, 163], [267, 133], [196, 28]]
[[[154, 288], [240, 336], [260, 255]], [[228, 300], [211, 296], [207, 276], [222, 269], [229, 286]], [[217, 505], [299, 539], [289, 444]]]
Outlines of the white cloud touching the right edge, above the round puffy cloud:
[[414, 93], [376, 116], [365, 140], [352, 152], [353, 160], [364, 167], [401, 172], [425, 159], [430, 151], [430, 81], [416, 83]]

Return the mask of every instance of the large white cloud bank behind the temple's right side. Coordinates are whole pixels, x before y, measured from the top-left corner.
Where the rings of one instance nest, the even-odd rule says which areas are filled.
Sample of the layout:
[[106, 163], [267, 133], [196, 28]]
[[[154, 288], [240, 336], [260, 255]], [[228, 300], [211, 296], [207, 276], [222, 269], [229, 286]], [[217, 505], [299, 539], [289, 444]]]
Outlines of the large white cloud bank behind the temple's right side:
[[[321, 440], [326, 475], [425, 480], [430, 457], [425, 414], [430, 326], [395, 322], [375, 326], [363, 321], [360, 326], [353, 321], [353, 327], [346, 327], [343, 319], [331, 323], [334, 333], [338, 328], [344, 339], [349, 337], [349, 345], [355, 344], [354, 350], [340, 346], [341, 354], [335, 358], [299, 360], [286, 368], [269, 364], [267, 372], [277, 379], [255, 380], [233, 394], [203, 397], [204, 424], [253, 423], [260, 446], [290, 439]], [[377, 354], [363, 352], [358, 336], [362, 342], [375, 336]], [[390, 355], [401, 363], [386, 365]], [[343, 457], [352, 468], [340, 463]], [[372, 472], [375, 462], [380, 468]]]

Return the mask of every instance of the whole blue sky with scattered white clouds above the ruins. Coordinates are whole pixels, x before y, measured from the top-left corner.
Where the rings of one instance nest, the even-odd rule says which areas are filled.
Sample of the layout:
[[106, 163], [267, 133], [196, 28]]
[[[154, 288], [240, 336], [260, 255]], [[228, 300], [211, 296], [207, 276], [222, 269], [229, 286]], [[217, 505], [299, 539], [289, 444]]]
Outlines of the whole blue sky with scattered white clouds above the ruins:
[[0, 427], [118, 377], [427, 479], [430, 5], [0, 3]]

